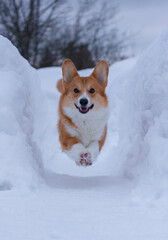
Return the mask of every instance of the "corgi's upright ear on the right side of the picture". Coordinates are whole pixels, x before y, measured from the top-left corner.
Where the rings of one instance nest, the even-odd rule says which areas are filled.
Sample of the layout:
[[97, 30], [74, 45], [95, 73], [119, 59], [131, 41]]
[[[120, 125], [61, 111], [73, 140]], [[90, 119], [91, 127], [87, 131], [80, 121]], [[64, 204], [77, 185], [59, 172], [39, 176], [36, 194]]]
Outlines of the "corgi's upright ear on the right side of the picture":
[[92, 72], [91, 76], [97, 79], [98, 83], [101, 85], [107, 86], [107, 78], [109, 73], [109, 67], [106, 61], [100, 61], [94, 71]]

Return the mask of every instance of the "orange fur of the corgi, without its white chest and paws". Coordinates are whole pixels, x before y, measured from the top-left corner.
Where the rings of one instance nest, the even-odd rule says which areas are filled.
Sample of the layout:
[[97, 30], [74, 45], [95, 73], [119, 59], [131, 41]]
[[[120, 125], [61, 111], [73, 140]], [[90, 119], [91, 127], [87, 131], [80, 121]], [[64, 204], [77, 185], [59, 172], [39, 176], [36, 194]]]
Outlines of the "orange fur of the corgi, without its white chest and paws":
[[[63, 79], [57, 82], [57, 89], [61, 93], [59, 102], [59, 141], [63, 151], [70, 151], [75, 144], [82, 143], [79, 136], [73, 136], [67, 129], [71, 129], [76, 132], [82, 133], [82, 129], [75, 123], [72, 117], [65, 113], [64, 108], [72, 109], [75, 113], [78, 109], [75, 108], [75, 104], [79, 103], [79, 98], [83, 94], [87, 95], [90, 105], [93, 105], [93, 109], [90, 112], [93, 114], [108, 106], [108, 99], [105, 94], [105, 88], [107, 86], [108, 65], [105, 61], [99, 62], [93, 73], [89, 77], [80, 77], [77, 70], [71, 60], [66, 59], [62, 66]], [[75, 93], [74, 89], [77, 88], [79, 93]], [[95, 90], [94, 93], [90, 93], [90, 89]], [[87, 113], [88, 114], [88, 113]], [[79, 113], [79, 117], [82, 113]], [[87, 118], [86, 118], [87, 121]], [[96, 119], [95, 119], [96, 121]], [[91, 127], [91, 126], [90, 126]], [[99, 151], [102, 149], [106, 139], [107, 127], [104, 126], [104, 130], [101, 135], [101, 139], [98, 140]], [[85, 146], [86, 147], [86, 146]]]

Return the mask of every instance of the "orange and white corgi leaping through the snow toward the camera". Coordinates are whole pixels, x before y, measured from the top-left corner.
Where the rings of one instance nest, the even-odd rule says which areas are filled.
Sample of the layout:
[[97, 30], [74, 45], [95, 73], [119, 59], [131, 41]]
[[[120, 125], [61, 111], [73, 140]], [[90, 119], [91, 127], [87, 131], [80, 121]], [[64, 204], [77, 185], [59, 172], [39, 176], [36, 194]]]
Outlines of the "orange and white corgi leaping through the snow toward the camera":
[[59, 141], [63, 152], [79, 166], [96, 160], [107, 133], [108, 99], [105, 93], [109, 67], [100, 61], [89, 77], [80, 77], [71, 60], [62, 65], [57, 82]]

